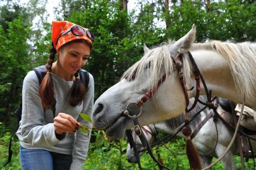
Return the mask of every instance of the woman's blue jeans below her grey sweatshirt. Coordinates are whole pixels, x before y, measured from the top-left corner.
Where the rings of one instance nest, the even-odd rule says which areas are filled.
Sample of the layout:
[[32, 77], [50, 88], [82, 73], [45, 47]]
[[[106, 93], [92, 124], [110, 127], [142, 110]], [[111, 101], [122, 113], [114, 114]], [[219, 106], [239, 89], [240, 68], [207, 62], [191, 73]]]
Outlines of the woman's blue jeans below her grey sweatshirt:
[[69, 170], [72, 155], [20, 146], [20, 166], [23, 170]]

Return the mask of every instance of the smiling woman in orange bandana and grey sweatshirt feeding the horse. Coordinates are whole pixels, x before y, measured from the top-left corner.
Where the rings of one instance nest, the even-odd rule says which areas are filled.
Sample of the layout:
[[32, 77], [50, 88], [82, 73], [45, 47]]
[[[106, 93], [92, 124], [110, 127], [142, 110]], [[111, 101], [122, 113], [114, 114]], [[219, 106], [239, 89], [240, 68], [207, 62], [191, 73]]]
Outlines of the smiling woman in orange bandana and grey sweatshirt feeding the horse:
[[52, 22], [53, 47], [46, 76], [39, 85], [35, 71], [29, 71], [23, 81], [22, 120], [16, 133], [22, 169], [83, 169], [90, 134], [79, 132], [83, 122], [79, 113], [91, 116], [94, 80], [89, 74], [85, 89], [78, 73], [90, 56], [92, 40], [87, 28]]

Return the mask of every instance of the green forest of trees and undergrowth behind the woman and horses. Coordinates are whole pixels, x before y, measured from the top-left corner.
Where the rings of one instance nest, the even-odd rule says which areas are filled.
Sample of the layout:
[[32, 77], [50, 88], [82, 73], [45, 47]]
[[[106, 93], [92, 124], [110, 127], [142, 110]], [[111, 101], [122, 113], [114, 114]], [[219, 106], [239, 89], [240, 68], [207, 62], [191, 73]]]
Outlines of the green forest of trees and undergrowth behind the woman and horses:
[[[47, 0], [30, 0], [23, 5], [19, 1], [0, 1], [1, 168], [7, 161], [10, 133], [16, 127], [13, 113], [21, 101], [23, 78], [49, 57], [51, 25], [46, 4]], [[137, 10], [128, 11], [129, 5], [136, 5]], [[128, 0], [63, 0], [53, 7], [53, 14], [56, 20], [69, 20], [94, 32], [93, 53], [84, 68], [94, 76], [95, 100], [142, 57], [144, 43], [151, 48], [169, 39], [177, 40], [193, 23], [197, 26], [197, 42], [256, 39], [254, 0], [145, 0], [136, 4]], [[13, 161], [2, 169], [20, 169], [17, 138], [13, 143]], [[184, 152], [184, 140], [169, 142], [166, 147]], [[172, 169], [189, 169], [185, 156], [165, 147], [157, 150]], [[127, 162], [125, 154], [125, 140], [106, 142], [101, 132], [94, 131], [85, 169], [138, 169]], [[239, 159], [236, 157], [238, 167]], [[145, 169], [157, 169], [147, 154], [141, 162]], [[253, 167], [252, 160], [246, 167]], [[220, 168], [219, 163], [213, 169]]]

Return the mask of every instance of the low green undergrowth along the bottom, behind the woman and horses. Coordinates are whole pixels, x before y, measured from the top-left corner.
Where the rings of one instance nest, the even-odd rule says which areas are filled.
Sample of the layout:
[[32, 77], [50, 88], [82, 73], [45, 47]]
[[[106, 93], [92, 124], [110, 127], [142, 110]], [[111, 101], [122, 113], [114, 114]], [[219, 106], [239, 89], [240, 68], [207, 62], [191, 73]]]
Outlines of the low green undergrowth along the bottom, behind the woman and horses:
[[[8, 130], [3, 123], [0, 122], [0, 169], [21, 169], [19, 164], [19, 141], [16, 136], [13, 140], [13, 158], [5, 168], [2, 167], [7, 162], [8, 158], [8, 144], [10, 140], [10, 130]], [[139, 169], [137, 164], [129, 163], [126, 160], [126, 148], [127, 143], [124, 139], [121, 141], [107, 142], [102, 132], [96, 131], [97, 140], [101, 142], [95, 142], [90, 144], [90, 148], [85, 160], [84, 169], [109, 169], [109, 170], [120, 170], [120, 169]], [[160, 135], [162, 138], [163, 136]], [[153, 153], [157, 157], [157, 153], [160, 154], [164, 165], [174, 170], [189, 169], [187, 157], [184, 155], [184, 139], [176, 138], [171, 142], [157, 148], [153, 148]], [[215, 161], [216, 159], [213, 159]], [[238, 169], [241, 169], [240, 157], [235, 156], [235, 161]], [[146, 152], [141, 157], [141, 165], [144, 169], [159, 169], [156, 163], [153, 162], [150, 155]], [[254, 166], [253, 160], [245, 163], [245, 169], [249, 170]], [[221, 162], [217, 163], [212, 168], [213, 170], [223, 169]]]

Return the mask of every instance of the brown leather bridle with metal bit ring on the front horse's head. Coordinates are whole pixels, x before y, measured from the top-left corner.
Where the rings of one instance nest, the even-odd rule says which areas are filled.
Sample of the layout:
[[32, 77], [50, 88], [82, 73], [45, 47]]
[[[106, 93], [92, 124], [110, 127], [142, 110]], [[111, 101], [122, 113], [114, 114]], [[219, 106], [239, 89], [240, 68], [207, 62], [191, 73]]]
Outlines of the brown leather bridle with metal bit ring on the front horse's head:
[[[183, 135], [185, 135], [187, 139], [190, 139], [190, 135], [191, 135], [192, 132], [191, 132], [191, 129], [189, 127], [189, 112], [192, 111], [192, 109], [194, 109], [195, 106], [197, 105], [197, 102], [200, 101], [198, 99], [199, 95], [200, 95], [200, 89], [201, 89], [200, 88], [200, 78], [202, 79], [204, 88], [206, 90], [207, 99], [208, 99], [208, 101], [206, 103], [204, 103], [204, 102], [202, 102], [202, 103], [204, 103], [204, 105], [210, 106], [212, 108], [213, 108], [213, 105], [212, 105], [212, 102], [211, 102], [211, 91], [209, 93], [209, 91], [207, 90], [206, 83], [204, 82], [203, 76], [201, 76], [200, 70], [198, 69], [198, 66], [195, 63], [195, 60], [194, 60], [193, 56], [191, 55], [190, 52], [187, 52], [187, 55], [189, 56], [189, 59], [192, 63], [192, 66], [194, 67], [194, 75], [195, 75], [196, 88], [197, 88], [196, 89], [195, 100], [194, 100], [194, 103], [191, 106], [191, 108], [187, 108], [188, 105], [189, 105], [189, 95], [188, 95], [187, 91], [189, 91], [189, 90], [187, 90], [187, 88], [186, 88], [186, 85], [185, 85], [186, 83], [185, 83], [185, 80], [184, 80], [184, 77], [183, 77], [183, 72], [181, 71], [181, 68], [183, 67], [183, 63], [182, 63], [183, 54], [180, 54], [175, 58], [171, 56], [171, 58], [172, 58], [172, 61], [173, 61], [173, 64], [172, 64], [173, 71], [172, 71], [172, 73], [174, 73], [175, 70], [178, 71], [180, 84], [181, 84], [181, 87], [183, 88], [184, 97], [186, 99], [186, 109], [185, 109], [185, 111], [186, 111], [185, 126], [186, 127], [183, 129]], [[138, 117], [142, 114], [142, 105], [144, 105], [145, 102], [147, 102], [149, 99], [151, 99], [153, 94], [160, 87], [160, 85], [165, 81], [165, 79], [166, 79], [166, 74], [164, 74], [161, 77], [161, 79], [157, 82], [157, 84], [150, 91], [145, 93], [145, 95], [141, 99], [139, 99], [138, 102], [129, 103], [126, 106], [125, 111], [123, 111], [123, 115], [132, 119], [133, 124], [135, 125], [135, 128], [134, 128], [135, 133], [136, 133], [136, 135], [139, 136], [139, 139], [141, 140], [144, 147], [147, 148], [148, 153], [150, 154], [151, 158], [160, 167], [165, 168], [165, 169], [169, 169], [166, 166], [162, 165], [162, 163], [160, 163], [156, 159], [156, 157], [154, 157], [154, 154], [151, 150], [151, 146], [150, 146], [150, 144], [148, 144], [148, 141], [145, 138], [145, 135], [144, 135], [143, 131], [141, 130], [141, 126], [140, 126], [139, 121], [138, 121]], [[193, 88], [191, 88], [190, 90], [192, 90], [192, 89]], [[200, 101], [200, 103], [201, 103], [201, 101]], [[138, 159], [139, 168], [142, 169], [141, 165], [139, 163], [139, 157], [138, 157], [138, 153], [136, 151], [135, 143], [134, 143], [133, 138], [132, 138], [132, 130], [126, 130], [126, 135], [127, 135], [128, 141], [130, 142], [130, 146], [133, 147], [133, 150], [135, 151], [135, 156]]]

